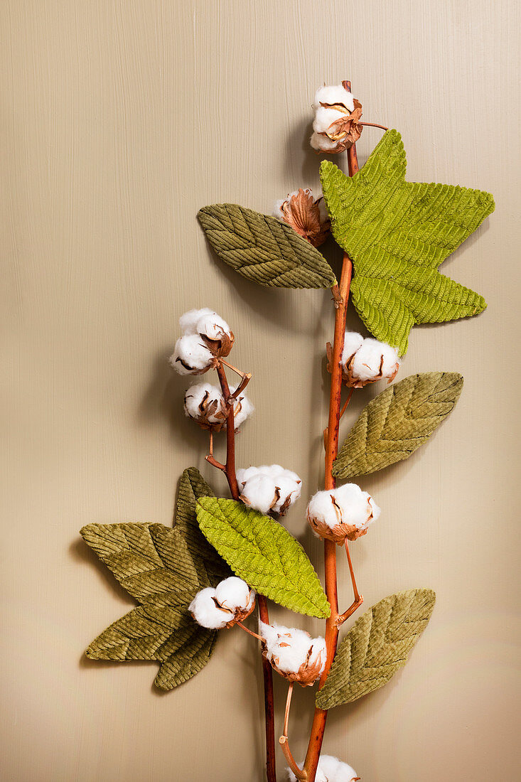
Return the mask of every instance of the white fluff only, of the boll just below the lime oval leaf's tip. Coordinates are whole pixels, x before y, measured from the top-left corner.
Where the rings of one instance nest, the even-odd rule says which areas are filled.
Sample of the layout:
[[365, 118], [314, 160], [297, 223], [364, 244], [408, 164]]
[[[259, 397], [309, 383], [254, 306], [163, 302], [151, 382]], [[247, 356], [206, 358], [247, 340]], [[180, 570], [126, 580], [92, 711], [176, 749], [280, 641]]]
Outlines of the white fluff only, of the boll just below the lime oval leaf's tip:
[[282, 673], [298, 673], [301, 665], [312, 667], [322, 657], [315, 678], [321, 675], [326, 658], [324, 638], [312, 638], [304, 630], [264, 622], [259, 622], [259, 634], [266, 643], [268, 660], [274, 662]]

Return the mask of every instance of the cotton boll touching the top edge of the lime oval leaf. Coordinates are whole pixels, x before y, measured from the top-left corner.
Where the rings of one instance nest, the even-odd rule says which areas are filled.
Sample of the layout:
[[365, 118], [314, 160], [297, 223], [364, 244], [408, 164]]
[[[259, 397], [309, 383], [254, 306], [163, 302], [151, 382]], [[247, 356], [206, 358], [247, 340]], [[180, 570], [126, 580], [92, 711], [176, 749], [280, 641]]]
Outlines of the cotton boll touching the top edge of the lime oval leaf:
[[240, 499], [261, 513], [283, 516], [300, 497], [302, 482], [296, 472], [280, 465], [261, 465], [237, 470]]

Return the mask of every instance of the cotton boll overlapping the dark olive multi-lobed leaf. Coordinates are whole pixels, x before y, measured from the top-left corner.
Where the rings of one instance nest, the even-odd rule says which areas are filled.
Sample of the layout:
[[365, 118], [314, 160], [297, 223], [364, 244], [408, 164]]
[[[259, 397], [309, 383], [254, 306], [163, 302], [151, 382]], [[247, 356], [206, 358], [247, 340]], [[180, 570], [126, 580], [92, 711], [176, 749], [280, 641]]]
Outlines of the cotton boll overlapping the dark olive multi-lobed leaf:
[[200, 590], [189, 604], [189, 612], [196, 622], [214, 630], [233, 627], [243, 622], [255, 608], [255, 592], [246, 581], [230, 576], [217, 584]]

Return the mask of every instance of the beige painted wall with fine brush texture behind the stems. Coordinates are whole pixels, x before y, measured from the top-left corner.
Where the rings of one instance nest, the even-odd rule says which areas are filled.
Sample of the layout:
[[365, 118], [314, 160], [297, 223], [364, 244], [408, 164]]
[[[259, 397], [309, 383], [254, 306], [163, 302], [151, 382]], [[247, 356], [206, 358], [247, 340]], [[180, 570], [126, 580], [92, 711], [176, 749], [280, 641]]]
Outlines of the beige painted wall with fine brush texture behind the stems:
[[[519, 22], [519, 4], [488, 0], [2, 2], [3, 779], [263, 778], [253, 641], [226, 634], [165, 695], [153, 664], [86, 661], [131, 601], [77, 530], [169, 524], [187, 465], [224, 489], [165, 361], [197, 305], [232, 324], [254, 372], [239, 464], [280, 461], [306, 493], [319, 486], [329, 296], [243, 282], [211, 256], [196, 210], [268, 211], [317, 185], [311, 99], [344, 77], [367, 120], [401, 130], [411, 179], [490, 190], [497, 210], [445, 264], [488, 310], [416, 329], [404, 361], [402, 375], [461, 371], [458, 409], [410, 461], [363, 481], [383, 507], [354, 547], [367, 603], [422, 585], [436, 612], [393, 683], [332, 712], [325, 751], [364, 782], [519, 778]], [[361, 161], [378, 139], [365, 132]], [[288, 526], [319, 565], [304, 508]], [[343, 563], [340, 585], [347, 604]], [[296, 694], [297, 758], [311, 703]]]

